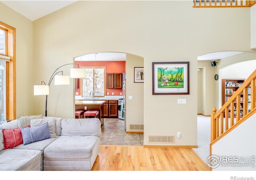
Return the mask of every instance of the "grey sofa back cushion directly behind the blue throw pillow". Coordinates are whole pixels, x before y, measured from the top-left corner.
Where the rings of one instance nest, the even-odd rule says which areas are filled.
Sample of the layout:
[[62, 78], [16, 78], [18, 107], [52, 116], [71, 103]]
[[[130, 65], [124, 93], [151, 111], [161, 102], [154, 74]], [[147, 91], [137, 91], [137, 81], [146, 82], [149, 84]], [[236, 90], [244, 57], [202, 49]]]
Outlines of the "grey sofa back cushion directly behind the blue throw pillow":
[[56, 133], [55, 133], [56, 129], [55, 129], [54, 117], [43, 118], [43, 119], [32, 119], [30, 121], [30, 127], [38, 127], [44, 123], [48, 123], [51, 137], [55, 138], [56, 137]]

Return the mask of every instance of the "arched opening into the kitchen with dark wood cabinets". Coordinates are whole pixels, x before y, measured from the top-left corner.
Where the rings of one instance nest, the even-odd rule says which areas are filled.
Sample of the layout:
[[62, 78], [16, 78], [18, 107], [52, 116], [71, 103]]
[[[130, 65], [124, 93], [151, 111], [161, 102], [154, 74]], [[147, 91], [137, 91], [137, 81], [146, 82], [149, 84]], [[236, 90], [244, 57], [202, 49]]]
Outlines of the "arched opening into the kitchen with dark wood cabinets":
[[[86, 78], [76, 80], [74, 85], [74, 111], [99, 111], [100, 144], [143, 145], [144, 58], [99, 52], [74, 57], [74, 63], [86, 69]], [[103, 103], [98, 107], [89, 103], [96, 101]]]

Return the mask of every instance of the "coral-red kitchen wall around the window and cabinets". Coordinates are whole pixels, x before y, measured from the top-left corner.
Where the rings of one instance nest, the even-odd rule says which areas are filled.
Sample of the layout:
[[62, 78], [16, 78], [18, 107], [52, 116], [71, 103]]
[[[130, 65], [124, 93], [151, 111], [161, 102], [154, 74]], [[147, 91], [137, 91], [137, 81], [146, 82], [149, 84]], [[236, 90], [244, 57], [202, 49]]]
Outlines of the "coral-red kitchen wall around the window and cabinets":
[[[79, 64], [79, 68], [80, 66], [95, 66], [95, 61], [75, 61], [75, 63]], [[97, 66], [106, 67], [106, 73], [125, 73], [126, 61], [96, 61]], [[78, 89], [75, 89], [75, 92], [80, 95], [80, 81], [78, 81]], [[106, 89], [106, 96], [120, 96], [120, 93], [123, 93], [123, 89]]]

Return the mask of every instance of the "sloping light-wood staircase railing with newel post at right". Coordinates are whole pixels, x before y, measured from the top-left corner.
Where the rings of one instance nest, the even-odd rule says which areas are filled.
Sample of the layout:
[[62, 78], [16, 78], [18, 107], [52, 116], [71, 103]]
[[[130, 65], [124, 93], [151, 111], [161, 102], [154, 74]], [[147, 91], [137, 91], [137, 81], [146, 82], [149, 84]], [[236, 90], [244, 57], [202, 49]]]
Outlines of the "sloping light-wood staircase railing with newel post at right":
[[[217, 113], [216, 107], [212, 108], [210, 155], [212, 155], [212, 145], [214, 143], [216, 143], [223, 136], [227, 135], [230, 131], [235, 129], [251, 115], [256, 113], [255, 79], [256, 70], [244, 81], [244, 83], [236, 90], [236, 92], [230, 97], [230, 99], [228, 99], [228, 101], [220, 108]], [[251, 89], [250, 94], [248, 94], [248, 88]], [[248, 97], [250, 98], [248, 99]], [[239, 102], [243, 103], [242, 109], [240, 109]], [[237, 103], [236, 109], [234, 106], [235, 103]], [[248, 103], [250, 103], [249, 106]], [[240, 113], [236, 113], [235, 117], [234, 111], [242, 111], [243, 113], [241, 116]]]

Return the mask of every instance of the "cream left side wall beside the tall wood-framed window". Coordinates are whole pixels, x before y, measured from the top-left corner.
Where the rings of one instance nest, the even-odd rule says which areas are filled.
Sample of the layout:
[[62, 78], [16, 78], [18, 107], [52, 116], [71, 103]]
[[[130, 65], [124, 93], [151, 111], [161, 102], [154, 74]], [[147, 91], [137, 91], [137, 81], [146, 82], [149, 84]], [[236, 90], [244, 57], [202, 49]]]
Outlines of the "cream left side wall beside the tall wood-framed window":
[[0, 21], [16, 28], [16, 116], [32, 115], [34, 108], [32, 21], [2, 2], [0, 2]]

